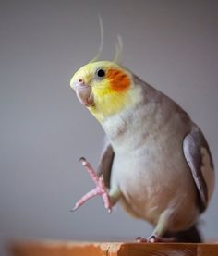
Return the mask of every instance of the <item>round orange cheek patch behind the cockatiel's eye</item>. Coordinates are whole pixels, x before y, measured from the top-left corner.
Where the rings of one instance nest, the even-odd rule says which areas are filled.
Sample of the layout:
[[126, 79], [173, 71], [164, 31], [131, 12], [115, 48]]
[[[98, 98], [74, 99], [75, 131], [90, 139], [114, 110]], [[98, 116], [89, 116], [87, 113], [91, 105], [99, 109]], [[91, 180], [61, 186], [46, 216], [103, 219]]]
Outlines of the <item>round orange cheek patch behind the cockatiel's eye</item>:
[[117, 69], [109, 69], [107, 79], [110, 80], [112, 90], [117, 92], [127, 91], [131, 84], [128, 75]]

